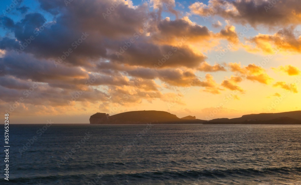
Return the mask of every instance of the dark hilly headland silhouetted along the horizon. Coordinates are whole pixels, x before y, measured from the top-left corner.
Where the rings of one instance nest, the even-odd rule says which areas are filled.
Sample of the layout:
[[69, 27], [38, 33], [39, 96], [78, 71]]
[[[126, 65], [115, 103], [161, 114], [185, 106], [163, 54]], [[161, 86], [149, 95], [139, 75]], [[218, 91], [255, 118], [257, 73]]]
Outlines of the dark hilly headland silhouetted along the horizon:
[[301, 111], [260, 113], [243, 115], [240, 118], [200, 120], [195, 116], [178, 118], [166, 111], [129, 111], [115, 115], [96, 113], [90, 124], [301, 124]]

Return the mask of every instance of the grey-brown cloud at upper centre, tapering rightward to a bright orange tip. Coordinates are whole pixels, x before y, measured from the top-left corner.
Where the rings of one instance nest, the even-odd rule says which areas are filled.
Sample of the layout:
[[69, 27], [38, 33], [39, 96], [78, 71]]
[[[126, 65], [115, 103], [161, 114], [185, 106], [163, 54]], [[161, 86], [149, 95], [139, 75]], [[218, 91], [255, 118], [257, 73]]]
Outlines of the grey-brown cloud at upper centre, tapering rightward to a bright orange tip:
[[[194, 49], [194, 52], [197, 51], [196, 53], [209, 51], [219, 45], [221, 39], [227, 39], [235, 44], [239, 42], [235, 27], [232, 25], [226, 25], [219, 33], [213, 33], [206, 26], [191, 22], [188, 17], [177, 20], [165, 18], [158, 21], [152, 30], [150, 38], [156, 44], [169, 44], [175, 47], [186, 45]], [[195, 48], [202, 48], [202, 50]]]

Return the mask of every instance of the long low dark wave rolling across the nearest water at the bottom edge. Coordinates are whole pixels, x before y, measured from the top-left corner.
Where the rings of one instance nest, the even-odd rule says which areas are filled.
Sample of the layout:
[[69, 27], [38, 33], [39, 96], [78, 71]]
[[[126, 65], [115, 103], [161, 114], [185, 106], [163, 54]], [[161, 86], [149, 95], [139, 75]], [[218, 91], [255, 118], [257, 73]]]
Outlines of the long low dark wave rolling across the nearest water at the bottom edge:
[[36, 176], [27, 178], [10, 179], [12, 182], [26, 183], [35, 181], [51, 181], [71, 179], [71, 181], [78, 180], [92, 180], [98, 178], [101, 182], [113, 183], [116, 180], [135, 180], [135, 179], [149, 179], [149, 180], [170, 180], [170, 179], [203, 179], [203, 178], [226, 178], [226, 177], [255, 177], [265, 175], [287, 175], [301, 174], [301, 167], [299, 168], [238, 168], [238, 169], [206, 169], [206, 170], [187, 170], [187, 171], [154, 171], [154, 172], [140, 172], [140, 173], [123, 173], [123, 174], [78, 174], [78, 175], [56, 175], [56, 176]]

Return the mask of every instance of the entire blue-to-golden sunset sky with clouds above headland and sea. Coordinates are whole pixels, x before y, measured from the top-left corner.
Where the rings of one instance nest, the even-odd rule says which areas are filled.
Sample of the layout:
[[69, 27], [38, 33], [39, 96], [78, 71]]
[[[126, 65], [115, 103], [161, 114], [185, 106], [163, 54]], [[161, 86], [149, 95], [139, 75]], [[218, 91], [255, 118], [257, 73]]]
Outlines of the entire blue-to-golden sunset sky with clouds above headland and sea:
[[15, 0], [0, 10], [0, 111], [11, 123], [301, 110], [297, 0]]

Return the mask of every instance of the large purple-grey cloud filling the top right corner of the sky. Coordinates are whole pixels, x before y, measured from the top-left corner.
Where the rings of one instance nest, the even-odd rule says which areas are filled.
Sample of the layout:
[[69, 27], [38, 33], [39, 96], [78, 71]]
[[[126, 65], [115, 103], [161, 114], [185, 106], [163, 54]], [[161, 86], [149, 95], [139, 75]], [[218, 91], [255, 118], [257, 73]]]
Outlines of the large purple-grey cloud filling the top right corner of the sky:
[[297, 0], [281, 0], [272, 4], [258, 0], [209, 0], [189, 6], [193, 14], [203, 17], [219, 16], [252, 27], [287, 27], [301, 23], [301, 8]]

